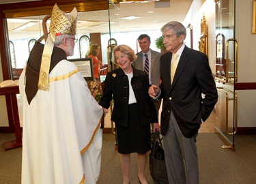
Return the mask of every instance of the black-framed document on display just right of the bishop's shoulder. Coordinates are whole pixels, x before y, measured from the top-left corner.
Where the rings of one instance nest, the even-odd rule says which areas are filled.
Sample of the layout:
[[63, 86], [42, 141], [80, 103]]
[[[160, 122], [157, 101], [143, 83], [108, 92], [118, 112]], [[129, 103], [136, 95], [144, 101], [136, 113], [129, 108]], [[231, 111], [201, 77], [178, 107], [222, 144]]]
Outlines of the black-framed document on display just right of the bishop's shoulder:
[[91, 58], [68, 59], [68, 61], [76, 64], [86, 81], [94, 80], [94, 70]]

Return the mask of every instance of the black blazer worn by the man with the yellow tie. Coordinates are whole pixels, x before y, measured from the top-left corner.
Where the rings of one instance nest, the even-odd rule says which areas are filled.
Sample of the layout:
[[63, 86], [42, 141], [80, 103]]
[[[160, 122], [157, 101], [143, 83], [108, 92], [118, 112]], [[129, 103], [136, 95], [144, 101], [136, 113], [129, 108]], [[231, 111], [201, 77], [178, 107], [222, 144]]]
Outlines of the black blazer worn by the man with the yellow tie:
[[[162, 55], [161, 94], [163, 98], [161, 114], [161, 134], [165, 135], [169, 126], [171, 110], [182, 134], [190, 138], [197, 134], [201, 119], [205, 121], [214, 108], [218, 94], [208, 57], [202, 52], [185, 46], [177, 65], [171, 85], [172, 53]], [[205, 98], [202, 99], [203, 93]]]

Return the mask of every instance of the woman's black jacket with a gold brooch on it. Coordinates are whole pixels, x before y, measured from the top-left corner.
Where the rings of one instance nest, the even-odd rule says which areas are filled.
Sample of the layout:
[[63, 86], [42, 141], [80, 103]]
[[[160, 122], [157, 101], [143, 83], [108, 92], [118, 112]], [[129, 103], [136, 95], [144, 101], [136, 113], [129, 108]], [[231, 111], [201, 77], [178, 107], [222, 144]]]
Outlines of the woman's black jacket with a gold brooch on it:
[[[150, 95], [148, 94], [149, 80], [146, 72], [141, 70], [133, 70], [133, 77], [131, 81], [132, 89], [137, 100], [139, 110], [139, 119], [141, 125], [148, 123], [157, 123], [158, 117], [156, 115], [156, 108]], [[129, 85], [128, 77], [124, 74], [121, 68], [113, 70], [106, 74], [104, 82], [103, 96], [100, 99], [100, 106], [109, 108], [110, 102], [114, 100], [113, 112], [111, 121], [119, 125], [128, 125], [128, 102], [129, 102]], [[130, 114], [132, 115], [132, 114]]]

